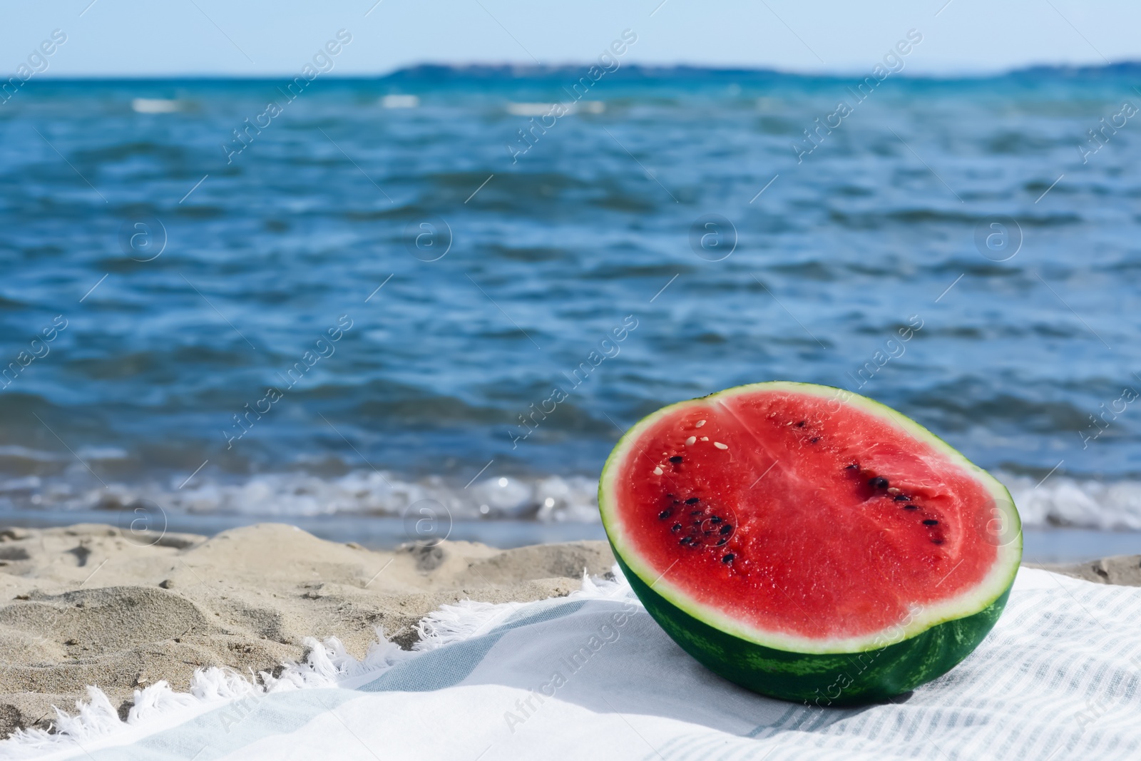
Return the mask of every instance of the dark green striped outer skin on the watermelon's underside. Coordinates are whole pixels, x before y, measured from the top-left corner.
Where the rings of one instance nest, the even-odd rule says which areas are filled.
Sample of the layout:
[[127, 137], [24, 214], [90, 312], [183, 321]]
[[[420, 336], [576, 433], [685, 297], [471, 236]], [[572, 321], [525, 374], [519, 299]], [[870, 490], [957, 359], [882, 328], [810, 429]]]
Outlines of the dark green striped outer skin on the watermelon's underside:
[[891, 629], [883, 647], [860, 653], [791, 653], [734, 637], [693, 617], [655, 592], [615, 557], [638, 599], [689, 655], [742, 687], [809, 705], [885, 701], [950, 671], [978, 647], [998, 621], [1010, 588], [982, 610], [901, 639]]

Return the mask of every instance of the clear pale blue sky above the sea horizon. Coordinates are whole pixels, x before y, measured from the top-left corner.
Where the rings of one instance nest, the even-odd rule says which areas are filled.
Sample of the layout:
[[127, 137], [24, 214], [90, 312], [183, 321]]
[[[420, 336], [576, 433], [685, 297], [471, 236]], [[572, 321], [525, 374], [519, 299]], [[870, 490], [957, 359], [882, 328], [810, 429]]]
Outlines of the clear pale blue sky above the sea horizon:
[[624, 62], [641, 64], [858, 73], [909, 30], [923, 38], [911, 74], [1141, 60], [1135, 0], [41, 0], [6, 3], [3, 22], [5, 78], [54, 30], [66, 42], [46, 78], [292, 74], [339, 30], [341, 75], [574, 64], [623, 30], [637, 35]]

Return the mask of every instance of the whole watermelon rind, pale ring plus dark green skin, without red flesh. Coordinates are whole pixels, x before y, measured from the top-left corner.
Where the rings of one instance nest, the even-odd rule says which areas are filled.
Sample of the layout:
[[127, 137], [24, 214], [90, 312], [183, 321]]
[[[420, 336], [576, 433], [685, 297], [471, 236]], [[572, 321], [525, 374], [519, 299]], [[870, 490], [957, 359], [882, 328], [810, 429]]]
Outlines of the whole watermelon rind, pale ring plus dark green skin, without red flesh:
[[[979, 480], [994, 496], [995, 505], [1003, 511], [1003, 518], [1008, 521], [1006, 534], [1012, 536], [996, 548], [997, 556], [990, 573], [964, 594], [921, 608], [917, 615], [909, 616], [911, 621], [861, 637], [822, 640], [800, 638], [786, 632], [762, 631], [733, 620], [711, 606], [694, 600], [673, 585], [665, 574], [648, 567], [637, 552], [628, 548], [622, 526], [616, 519], [610, 494], [620, 470], [618, 463], [624, 462], [641, 432], [662, 415], [686, 405], [707, 404], [715, 402], [718, 397], [761, 390], [787, 390], [831, 397], [843, 405], [852, 405], [877, 418], [885, 418], [904, 432], [930, 445], [946, 462], [961, 467]], [[1010, 492], [997, 479], [899, 412], [852, 391], [814, 383], [770, 381], [738, 386], [697, 399], [679, 402], [647, 415], [626, 431], [607, 459], [599, 478], [598, 504], [618, 564], [639, 599], [662, 628], [715, 673], [750, 689], [785, 699], [820, 699], [819, 693], [814, 690], [826, 694], [835, 685], [851, 679], [851, 685], [842, 690], [840, 698], [824, 699], [833, 703], [874, 701], [906, 691], [946, 673], [990, 631], [1005, 605], [1021, 560], [1021, 521]], [[892, 643], [884, 646], [884, 642]], [[947, 642], [953, 642], [954, 647]], [[876, 662], [880, 662], [881, 655], [890, 657], [875, 667], [864, 669], [855, 677], [848, 673], [851, 671], [852, 657], [861, 657], [866, 663], [873, 654]], [[897, 662], [904, 665], [890, 665]], [[849, 664], [848, 671], [843, 667], [845, 663]], [[778, 667], [777, 664], [783, 665]], [[798, 672], [799, 681], [787, 681]], [[903, 685], [907, 686], [901, 687]]]

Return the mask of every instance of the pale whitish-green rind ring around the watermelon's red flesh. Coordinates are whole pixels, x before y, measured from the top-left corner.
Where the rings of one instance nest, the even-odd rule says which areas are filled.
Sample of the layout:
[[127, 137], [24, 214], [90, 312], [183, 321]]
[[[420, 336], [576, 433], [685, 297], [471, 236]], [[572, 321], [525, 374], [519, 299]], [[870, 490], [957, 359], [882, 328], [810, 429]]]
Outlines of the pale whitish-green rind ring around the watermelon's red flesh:
[[[994, 497], [995, 507], [1003, 512], [1001, 520], [1005, 526], [1003, 532], [1004, 544], [996, 547], [994, 565], [978, 584], [962, 593], [942, 600], [938, 604], [912, 606], [912, 613], [906, 623], [892, 624], [883, 630], [871, 632], [859, 637], [847, 638], [808, 638], [798, 637], [787, 632], [764, 630], [747, 624], [743, 621], [731, 618], [717, 608], [695, 600], [685, 590], [669, 580], [665, 568], [652, 568], [638, 552], [633, 549], [625, 526], [615, 510], [616, 483], [618, 473], [624, 470], [624, 464], [631, 454], [637, 455], [637, 443], [652, 426], [663, 415], [681, 410], [688, 405], [719, 404], [723, 399], [731, 398], [741, 394], [753, 394], [756, 391], [786, 391], [791, 394], [802, 394], [823, 397], [835, 400], [837, 404], [855, 407], [866, 413], [887, 420], [895, 428], [907, 434], [917, 442], [930, 446], [940, 455], [940, 467], [953, 464], [960, 467], [976, 481], [981, 484]], [[647, 415], [630, 428], [618, 440], [610, 453], [602, 475], [598, 484], [598, 507], [602, 516], [602, 525], [614, 545], [614, 550], [622, 557], [630, 570], [638, 575], [646, 584], [653, 586], [654, 591], [664, 597], [678, 608], [685, 610], [695, 618], [703, 621], [711, 626], [734, 637], [790, 653], [860, 653], [884, 647], [888, 643], [898, 642], [916, 634], [920, 634], [932, 626], [937, 626], [947, 621], [955, 621], [974, 615], [986, 609], [992, 602], [998, 599], [1003, 592], [1010, 589], [1018, 573], [1018, 566], [1022, 558], [1022, 527], [1018, 516], [1018, 510], [1010, 496], [1006, 487], [998, 483], [990, 473], [979, 468], [973, 462], [964, 458], [957, 450], [944, 442], [941, 438], [920, 426], [887, 405], [880, 404], [851, 391], [833, 388], [831, 386], [817, 386], [815, 383], [796, 383], [791, 381], [770, 381], [764, 383], [751, 383], [726, 389], [710, 396], [697, 399], [679, 402], [663, 407], [657, 412]]]

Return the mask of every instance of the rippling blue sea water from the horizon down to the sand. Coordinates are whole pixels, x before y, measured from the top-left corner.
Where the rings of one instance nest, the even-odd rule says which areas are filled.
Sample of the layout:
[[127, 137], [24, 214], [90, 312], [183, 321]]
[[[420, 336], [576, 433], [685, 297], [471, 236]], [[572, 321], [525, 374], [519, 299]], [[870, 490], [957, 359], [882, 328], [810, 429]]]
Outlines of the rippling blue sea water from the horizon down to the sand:
[[582, 68], [0, 103], [0, 523], [597, 537], [626, 427], [794, 379], [1141, 551], [1141, 68]]

